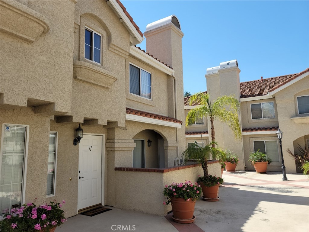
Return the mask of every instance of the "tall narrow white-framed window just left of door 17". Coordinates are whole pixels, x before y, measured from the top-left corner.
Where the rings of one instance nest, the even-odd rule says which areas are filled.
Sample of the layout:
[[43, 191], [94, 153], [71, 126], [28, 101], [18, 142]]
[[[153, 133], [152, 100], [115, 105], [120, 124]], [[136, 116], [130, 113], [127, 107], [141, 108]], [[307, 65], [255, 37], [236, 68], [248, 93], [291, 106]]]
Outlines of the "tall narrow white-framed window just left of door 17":
[[57, 132], [50, 132], [46, 195], [55, 195], [56, 165], [57, 165]]

